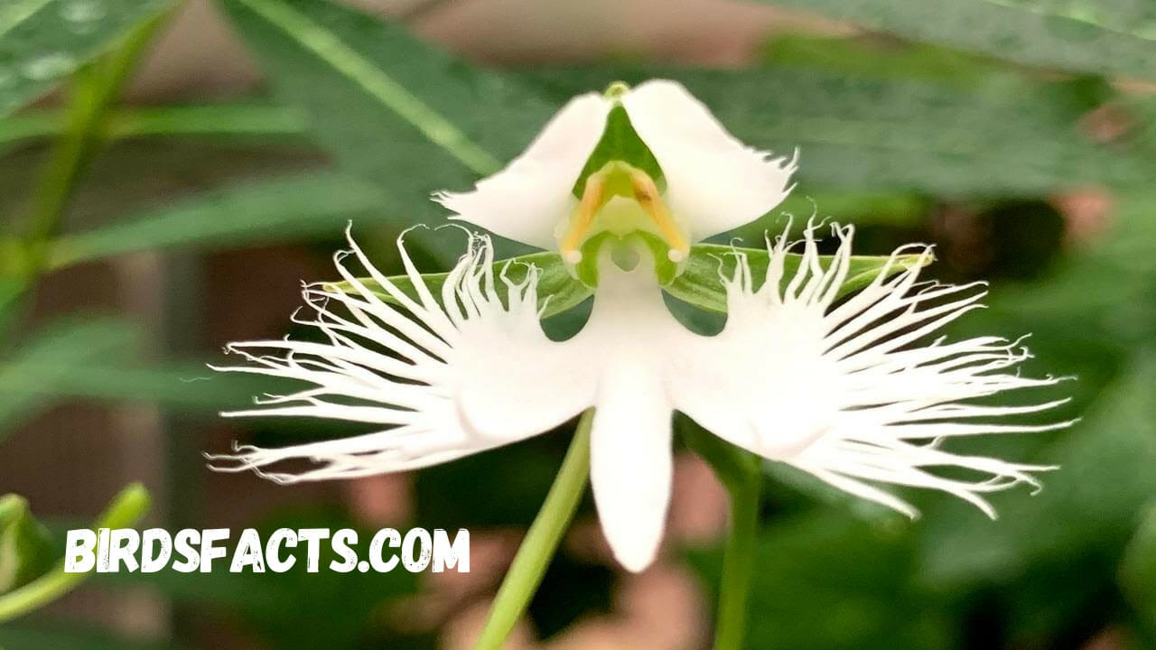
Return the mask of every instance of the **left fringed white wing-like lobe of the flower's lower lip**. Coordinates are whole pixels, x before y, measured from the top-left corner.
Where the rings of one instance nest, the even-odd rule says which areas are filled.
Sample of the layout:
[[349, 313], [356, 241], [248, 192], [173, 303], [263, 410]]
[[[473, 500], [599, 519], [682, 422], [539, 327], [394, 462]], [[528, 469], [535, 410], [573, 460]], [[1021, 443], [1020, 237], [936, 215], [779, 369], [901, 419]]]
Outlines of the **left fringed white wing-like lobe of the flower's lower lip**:
[[[310, 286], [314, 316], [298, 323], [326, 342], [269, 340], [231, 344], [251, 363], [218, 370], [297, 379], [294, 393], [271, 396], [228, 416], [280, 415], [380, 424], [341, 440], [213, 457], [227, 471], [254, 470], [281, 482], [354, 478], [415, 470], [547, 431], [593, 402], [594, 374], [580, 350], [550, 341], [538, 318], [536, 273], [519, 285], [492, 267], [487, 238], [469, 252], [435, 296], [398, 249], [416, 296], [402, 291], [354, 253], [394, 303], [383, 301], [342, 264], [354, 293]], [[509, 306], [501, 295], [507, 296]], [[269, 473], [283, 460], [314, 466]]]

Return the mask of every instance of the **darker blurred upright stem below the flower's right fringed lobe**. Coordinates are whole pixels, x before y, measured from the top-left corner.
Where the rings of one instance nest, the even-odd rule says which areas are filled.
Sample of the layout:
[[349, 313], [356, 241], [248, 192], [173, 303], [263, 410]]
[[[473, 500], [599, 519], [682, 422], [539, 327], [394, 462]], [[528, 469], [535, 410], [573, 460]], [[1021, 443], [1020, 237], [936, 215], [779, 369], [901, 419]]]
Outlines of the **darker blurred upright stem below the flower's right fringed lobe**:
[[741, 650], [747, 630], [747, 600], [755, 569], [755, 540], [758, 532], [762, 472], [750, 464], [742, 480], [732, 481], [731, 534], [722, 552], [722, 579], [719, 585], [714, 650]]

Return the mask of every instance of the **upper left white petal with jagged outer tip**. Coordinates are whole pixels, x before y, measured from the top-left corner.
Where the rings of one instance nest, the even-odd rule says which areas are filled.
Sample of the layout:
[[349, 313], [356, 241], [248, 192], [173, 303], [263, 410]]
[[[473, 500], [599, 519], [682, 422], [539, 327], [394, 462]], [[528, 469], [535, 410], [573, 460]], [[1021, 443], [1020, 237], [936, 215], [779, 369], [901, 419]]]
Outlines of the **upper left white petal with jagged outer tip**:
[[571, 99], [502, 171], [470, 192], [435, 200], [468, 221], [518, 242], [554, 249], [554, 230], [576, 205], [572, 190], [606, 128], [610, 102], [596, 93]]

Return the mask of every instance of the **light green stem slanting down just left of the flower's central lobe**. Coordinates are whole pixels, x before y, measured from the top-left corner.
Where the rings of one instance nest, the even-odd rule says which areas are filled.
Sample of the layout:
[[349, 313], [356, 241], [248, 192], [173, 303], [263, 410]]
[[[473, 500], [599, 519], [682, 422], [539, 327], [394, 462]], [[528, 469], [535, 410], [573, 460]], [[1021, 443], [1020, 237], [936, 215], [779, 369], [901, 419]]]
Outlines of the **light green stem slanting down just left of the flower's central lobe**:
[[558, 475], [502, 581], [474, 650], [502, 648], [542, 583], [542, 575], [546, 574], [586, 489], [586, 479], [590, 477], [590, 424], [593, 416], [594, 411], [590, 409], [578, 420], [578, 429], [565, 459], [562, 460]]

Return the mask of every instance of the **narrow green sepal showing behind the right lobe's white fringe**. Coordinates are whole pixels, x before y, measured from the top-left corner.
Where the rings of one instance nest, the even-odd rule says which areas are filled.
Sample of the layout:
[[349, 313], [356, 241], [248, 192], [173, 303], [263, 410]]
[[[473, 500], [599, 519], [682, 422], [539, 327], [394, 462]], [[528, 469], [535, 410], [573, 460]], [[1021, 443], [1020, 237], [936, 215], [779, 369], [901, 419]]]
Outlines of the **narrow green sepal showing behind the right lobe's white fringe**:
[[[747, 263], [750, 265], [750, 274], [757, 290], [766, 278], [766, 266], [770, 263], [766, 249], [743, 249], [720, 244], [691, 246], [690, 257], [687, 258], [682, 275], [675, 278], [674, 282], [667, 285], [665, 289], [674, 297], [692, 305], [726, 313], [726, 289], [722, 286], [722, 279], [734, 276], [736, 254], [747, 256]], [[820, 264], [825, 268], [830, 266], [831, 259], [830, 256], [821, 256]], [[869, 285], [890, 259], [889, 256], [852, 257], [847, 279], [839, 288], [839, 295], [850, 294]], [[929, 258], [920, 258], [918, 254], [899, 256], [891, 265], [891, 273], [912, 268], [919, 265], [920, 259], [924, 259], [925, 264], [931, 263]], [[784, 259], [784, 285], [790, 282], [801, 260], [802, 256], [799, 253], [788, 253]]]

